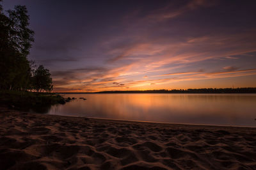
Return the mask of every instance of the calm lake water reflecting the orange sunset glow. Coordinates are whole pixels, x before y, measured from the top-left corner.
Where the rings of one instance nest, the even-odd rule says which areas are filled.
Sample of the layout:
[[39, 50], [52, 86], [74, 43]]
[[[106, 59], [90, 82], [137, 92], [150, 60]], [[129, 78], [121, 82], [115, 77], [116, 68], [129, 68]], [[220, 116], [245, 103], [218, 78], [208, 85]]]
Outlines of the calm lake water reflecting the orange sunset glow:
[[[47, 114], [256, 127], [256, 94], [68, 94]], [[87, 100], [79, 99], [87, 98]]]

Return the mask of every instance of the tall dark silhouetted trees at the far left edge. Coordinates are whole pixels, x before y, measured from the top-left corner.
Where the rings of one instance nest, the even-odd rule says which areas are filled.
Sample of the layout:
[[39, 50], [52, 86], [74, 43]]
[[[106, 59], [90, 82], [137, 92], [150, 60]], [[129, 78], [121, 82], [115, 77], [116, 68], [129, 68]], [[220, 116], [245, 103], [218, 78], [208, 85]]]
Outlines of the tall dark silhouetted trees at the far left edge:
[[15, 6], [4, 15], [0, 5], [0, 89], [26, 90], [31, 79], [28, 61], [34, 32], [28, 28], [26, 6]]

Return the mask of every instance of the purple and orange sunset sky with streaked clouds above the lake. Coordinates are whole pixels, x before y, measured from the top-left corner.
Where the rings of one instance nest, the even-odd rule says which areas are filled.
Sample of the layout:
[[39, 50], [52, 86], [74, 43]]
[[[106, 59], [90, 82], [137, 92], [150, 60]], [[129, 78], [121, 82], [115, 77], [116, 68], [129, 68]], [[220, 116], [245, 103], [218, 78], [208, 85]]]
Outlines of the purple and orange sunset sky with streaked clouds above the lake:
[[2, 4], [28, 8], [56, 92], [256, 87], [256, 1]]

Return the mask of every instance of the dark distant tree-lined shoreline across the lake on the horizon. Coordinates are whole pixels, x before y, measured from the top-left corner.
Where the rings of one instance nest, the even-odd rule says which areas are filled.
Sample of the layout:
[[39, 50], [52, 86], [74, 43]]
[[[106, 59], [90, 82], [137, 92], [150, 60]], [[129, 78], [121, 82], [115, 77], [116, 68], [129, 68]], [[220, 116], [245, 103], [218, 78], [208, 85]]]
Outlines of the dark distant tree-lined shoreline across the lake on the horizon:
[[97, 92], [57, 92], [62, 94], [99, 94], [99, 93], [186, 93], [186, 94], [221, 94], [221, 93], [256, 93], [256, 88], [201, 88], [201, 89], [153, 89], [132, 91], [97, 91]]

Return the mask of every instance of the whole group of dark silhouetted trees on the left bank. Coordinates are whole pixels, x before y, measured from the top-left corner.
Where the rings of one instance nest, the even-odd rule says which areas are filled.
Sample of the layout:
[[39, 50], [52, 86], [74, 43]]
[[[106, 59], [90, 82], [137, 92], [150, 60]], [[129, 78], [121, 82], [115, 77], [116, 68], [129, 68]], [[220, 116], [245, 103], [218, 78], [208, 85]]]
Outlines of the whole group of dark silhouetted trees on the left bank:
[[0, 4], [0, 91], [51, 91], [49, 70], [28, 60], [35, 33], [26, 6], [6, 13]]

